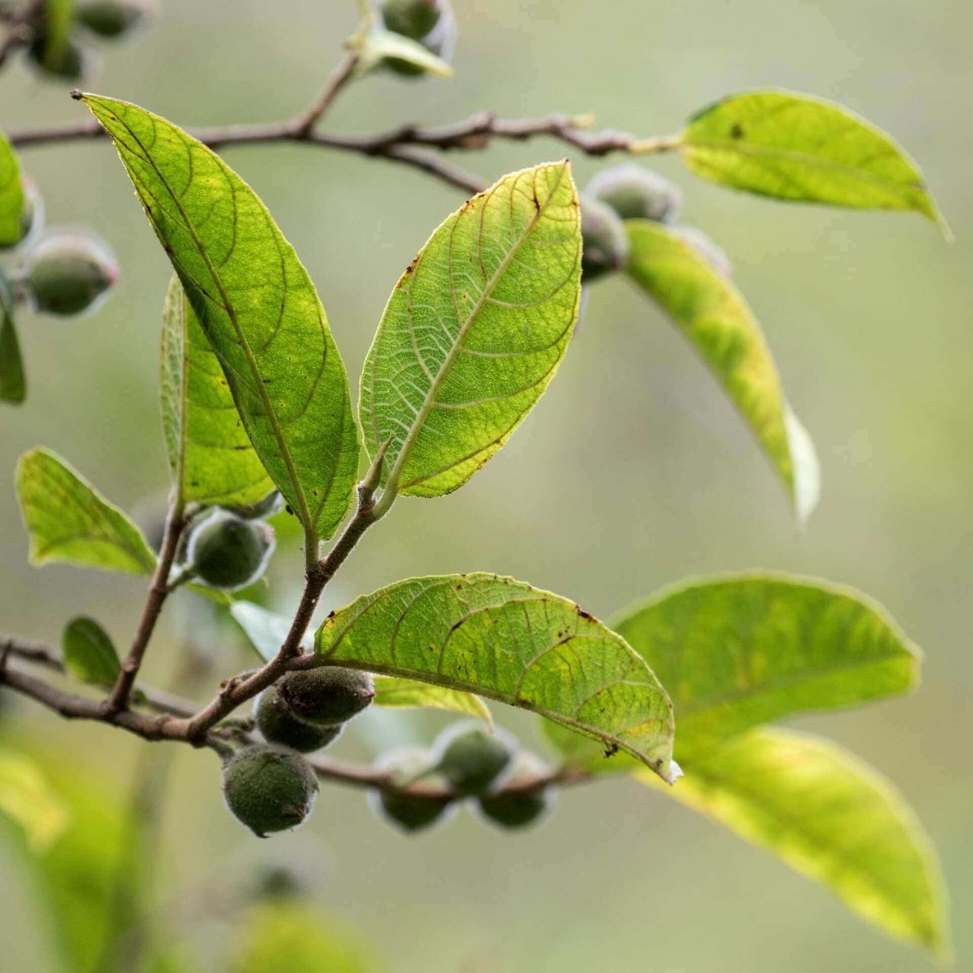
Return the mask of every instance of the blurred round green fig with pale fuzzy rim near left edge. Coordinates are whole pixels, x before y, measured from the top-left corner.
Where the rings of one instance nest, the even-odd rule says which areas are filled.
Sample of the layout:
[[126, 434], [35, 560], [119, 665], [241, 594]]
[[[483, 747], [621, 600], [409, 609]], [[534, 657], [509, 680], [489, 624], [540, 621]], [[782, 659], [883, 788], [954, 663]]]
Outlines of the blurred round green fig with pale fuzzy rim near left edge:
[[101, 306], [118, 275], [111, 248], [94, 234], [50, 230], [27, 250], [21, 276], [38, 311], [69, 317]]

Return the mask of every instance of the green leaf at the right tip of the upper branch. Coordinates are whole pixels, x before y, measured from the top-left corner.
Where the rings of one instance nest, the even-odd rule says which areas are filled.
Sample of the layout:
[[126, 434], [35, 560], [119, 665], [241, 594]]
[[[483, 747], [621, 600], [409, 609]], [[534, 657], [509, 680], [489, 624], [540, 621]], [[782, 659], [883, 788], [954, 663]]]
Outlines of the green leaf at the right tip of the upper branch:
[[941, 221], [919, 166], [840, 105], [789, 91], [744, 91], [703, 108], [680, 140], [698, 176], [778, 199], [915, 209]]

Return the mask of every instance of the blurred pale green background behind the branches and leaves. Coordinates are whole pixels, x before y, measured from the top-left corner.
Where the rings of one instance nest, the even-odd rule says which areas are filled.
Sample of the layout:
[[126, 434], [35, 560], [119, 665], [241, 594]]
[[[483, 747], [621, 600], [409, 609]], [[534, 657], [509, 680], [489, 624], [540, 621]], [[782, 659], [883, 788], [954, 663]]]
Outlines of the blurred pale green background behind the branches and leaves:
[[[874, 595], [924, 648], [922, 691], [803, 722], [873, 762], [919, 811], [945, 865], [964, 968], [973, 955], [973, 127], [964, 107], [973, 7], [454, 3], [452, 81], [370, 78], [326, 125], [594, 111], [599, 126], [663, 134], [728, 91], [780, 86], [840, 101], [897, 137], [924, 167], [957, 241], [948, 246], [912, 215], [727, 193], [660, 159], [685, 192], [685, 222], [733, 258], [820, 453], [823, 495], [807, 531], [795, 528], [775, 476], [691, 350], [630, 286], [609, 280], [593, 289], [558, 380], [506, 449], [448, 498], [400, 501], [323, 610], [408, 575], [472, 570], [513, 574], [602, 617], [686, 575], [754, 567]], [[183, 126], [284, 118], [318, 90], [354, 17], [351, 0], [164, 0], [151, 31], [105, 49], [90, 87]], [[67, 87], [9, 67], [0, 126], [84, 118]], [[563, 152], [536, 140], [452, 159], [493, 179]], [[295, 244], [356, 384], [389, 290], [461, 194], [401, 166], [322, 150], [246, 147], [227, 158]], [[0, 416], [0, 468], [12, 471], [21, 451], [43, 444], [131, 509], [165, 486], [157, 348], [167, 264], [106, 143], [24, 150], [22, 159], [49, 224], [90, 224], [119, 252], [123, 277], [94, 317], [23, 315], [30, 392], [23, 409]], [[572, 162], [579, 183], [599, 164], [579, 154]], [[8, 484], [0, 629], [56, 642], [64, 622], [86, 613], [124, 643], [144, 582], [27, 566]], [[300, 568], [294, 551], [276, 559], [272, 593], [282, 604], [294, 599]], [[160, 681], [182, 633], [210, 641], [185, 605], [163, 622], [149, 664]], [[213, 641], [216, 674], [240, 666], [233, 641]], [[498, 715], [535, 739], [521, 714]], [[139, 742], [26, 702], [3, 721], [126, 793]], [[442, 723], [373, 719], [338, 752], [369, 759], [382, 739], [428, 736]], [[43, 916], [3, 848], [0, 969], [54, 969]], [[523, 837], [461, 813], [413, 840], [379, 824], [360, 793], [331, 786], [306, 828], [262, 844], [225, 811], [212, 754], [186, 748], [158, 853], [166, 935], [196, 936], [204, 955], [227, 935], [210, 892], [243, 883], [256, 861], [283, 859], [313, 876], [322, 913], [362, 930], [395, 973], [895, 973], [925, 963], [771, 857], [627, 781], [563, 795], [551, 822]], [[202, 922], [207, 909], [215, 922]]]

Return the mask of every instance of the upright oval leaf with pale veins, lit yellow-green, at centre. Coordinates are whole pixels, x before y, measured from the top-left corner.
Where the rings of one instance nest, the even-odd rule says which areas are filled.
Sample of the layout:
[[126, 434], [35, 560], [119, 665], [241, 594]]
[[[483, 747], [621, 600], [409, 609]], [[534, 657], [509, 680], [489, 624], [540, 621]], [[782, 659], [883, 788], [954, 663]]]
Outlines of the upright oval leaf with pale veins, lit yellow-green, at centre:
[[382, 482], [466, 483], [554, 377], [578, 317], [581, 234], [567, 162], [504, 176], [430, 237], [395, 285], [361, 382]]

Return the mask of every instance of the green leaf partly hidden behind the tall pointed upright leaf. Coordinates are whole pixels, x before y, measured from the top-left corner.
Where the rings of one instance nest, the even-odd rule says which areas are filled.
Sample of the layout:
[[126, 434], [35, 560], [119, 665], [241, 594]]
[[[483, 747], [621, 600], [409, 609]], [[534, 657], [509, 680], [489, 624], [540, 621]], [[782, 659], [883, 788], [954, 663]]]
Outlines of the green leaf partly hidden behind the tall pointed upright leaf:
[[187, 503], [246, 505], [273, 489], [236, 412], [230, 384], [179, 277], [162, 312], [162, 429], [172, 480]]

